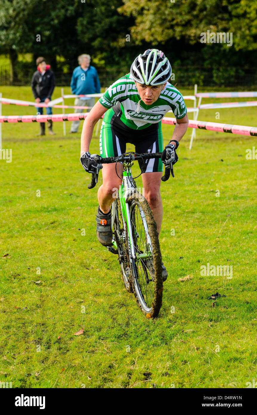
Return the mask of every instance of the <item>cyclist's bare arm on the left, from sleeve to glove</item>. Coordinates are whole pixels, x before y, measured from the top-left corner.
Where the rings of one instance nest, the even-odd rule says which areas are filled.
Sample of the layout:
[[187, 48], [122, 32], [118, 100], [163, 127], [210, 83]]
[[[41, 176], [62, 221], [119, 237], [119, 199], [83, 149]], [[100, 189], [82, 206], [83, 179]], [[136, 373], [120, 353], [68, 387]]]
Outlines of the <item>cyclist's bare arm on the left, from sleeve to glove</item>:
[[102, 115], [108, 110], [108, 108], [103, 107], [102, 104], [98, 101], [89, 112], [87, 117], [83, 123], [83, 129], [81, 133], [81, 152], [80, 155], [82, 156], [83, 153], [89, 151], [89, 144], [92, 139], [93, 130], [95, 124], [100, 120]]

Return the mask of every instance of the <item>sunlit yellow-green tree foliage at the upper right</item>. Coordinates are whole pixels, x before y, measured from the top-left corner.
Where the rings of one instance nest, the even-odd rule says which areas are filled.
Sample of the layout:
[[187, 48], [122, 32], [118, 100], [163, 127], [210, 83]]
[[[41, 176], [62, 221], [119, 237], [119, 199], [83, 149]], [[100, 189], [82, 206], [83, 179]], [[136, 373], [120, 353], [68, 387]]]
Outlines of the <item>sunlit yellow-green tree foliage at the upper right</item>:
[[[164, 44], [169, 39], [184, 38], [190, 44], [200, 41], [200, 34], [233, 32], [235, 50], [257, 49], [257, 2], [248, 0], [123, 0], [118, 11], [135, 18], [131, 33], [140, 44], [143, 40]], [[226, 47], [226, 45], [223, 45]]]

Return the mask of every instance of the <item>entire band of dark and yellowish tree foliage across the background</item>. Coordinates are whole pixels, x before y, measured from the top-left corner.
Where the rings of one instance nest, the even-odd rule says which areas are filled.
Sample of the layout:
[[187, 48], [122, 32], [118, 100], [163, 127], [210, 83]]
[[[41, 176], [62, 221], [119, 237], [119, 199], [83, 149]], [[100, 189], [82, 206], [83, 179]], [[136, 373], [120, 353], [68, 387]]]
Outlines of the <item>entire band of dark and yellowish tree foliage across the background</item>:
[[[201, 33], [207, 30], [232, 32], [233, 46], [201, 44]], [[72, 70], [77, 56], [89, 53], [98, 69], [123, 71], [149, 47], [164, 50], [175, 66], [213, 67], [215, 79], [225, 79], [229, 74], [217, 68], [256, 66], [257, 2], [1, 0], [0, 53], [10, 55], [15, 76], [22, 70], [17, 53], [33, 54], [31, 68], [37, 56], [45, 56], [54, 70], [61, 71], [62, 63], [56, 61], [61, 56]]]

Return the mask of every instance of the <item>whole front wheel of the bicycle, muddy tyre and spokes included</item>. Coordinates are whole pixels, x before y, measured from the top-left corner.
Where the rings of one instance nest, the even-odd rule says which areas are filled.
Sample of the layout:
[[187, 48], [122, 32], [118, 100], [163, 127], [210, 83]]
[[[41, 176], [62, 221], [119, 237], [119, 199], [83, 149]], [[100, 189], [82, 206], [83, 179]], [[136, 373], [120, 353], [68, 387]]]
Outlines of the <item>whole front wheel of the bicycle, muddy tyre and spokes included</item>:
[[162, 306], [162, 255], [157, 226], [145, 198], [138, 192], [128, 197], [135, 259], [132, 286], [137, 303], [147, 317], [157, 317]]

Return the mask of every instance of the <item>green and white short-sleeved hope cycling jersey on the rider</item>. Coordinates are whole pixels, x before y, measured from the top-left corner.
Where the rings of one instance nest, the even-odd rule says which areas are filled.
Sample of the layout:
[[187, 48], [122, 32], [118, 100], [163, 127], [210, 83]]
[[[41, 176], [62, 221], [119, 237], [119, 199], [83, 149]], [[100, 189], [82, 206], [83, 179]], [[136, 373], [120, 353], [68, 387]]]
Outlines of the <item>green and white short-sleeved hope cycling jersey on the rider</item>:
[[[151, 105], [146, 105], [140, 99], [135, 81], [130, 73], [110, 85], [99, 102], [103, 107], [111, 109], [113, 115], [116, 115], [113, 123], [123, 129], [145, 129], [160, 122], [166, 112], [170, 110], [173, 111], [177, 119], [183, 118], [187, 112], [183, 96], [169, 82], [167, 82], [157, 101]], [[105, 113], [105, 118], [108, 117], [109, 119], [108, 112]]]

